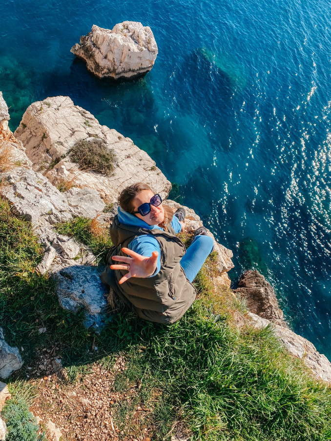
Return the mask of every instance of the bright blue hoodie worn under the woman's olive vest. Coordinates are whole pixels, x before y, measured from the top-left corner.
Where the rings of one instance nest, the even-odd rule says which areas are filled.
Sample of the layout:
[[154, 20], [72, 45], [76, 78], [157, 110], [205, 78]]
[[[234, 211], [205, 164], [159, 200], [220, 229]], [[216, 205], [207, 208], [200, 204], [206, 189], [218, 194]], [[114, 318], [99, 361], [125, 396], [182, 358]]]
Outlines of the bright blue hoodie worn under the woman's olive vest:
[[[127, 213], [126, 211], [122, 210], [121, 207], [118, 207], [117, 214], [119, 221], [125, 223], [126, 225], [134, 225], [136, 227], [146, 228], [148, 230], [153, 230], [153, 229], [164, 230], [163, 228], [159, 227], [159, 225], [148, 225], [148, 223], [146, 223], [142, 219], [137, 218], [137, 216], [134, 216], [133, 214]], [[182, 230], [182, 225], [179, 223], [176, 216], [172, 218], [171, 226], [175, 230], [176, 234]], [[150, 277], [155, 276], [155, 274], [157, 274], [160, 271], [161, 249], [159, 242], [154, 238], [154, 236], [149, 234], [138, 236], [129, 243], [128, 248], [129, 250], [132, 250], [135, 253], [141, 254], [142, 256], [145, 257], [151, 257], [152, 252], [157, 251], [159, 253], [159, 256], [156, 265], [156, 270], [155, 273]]]

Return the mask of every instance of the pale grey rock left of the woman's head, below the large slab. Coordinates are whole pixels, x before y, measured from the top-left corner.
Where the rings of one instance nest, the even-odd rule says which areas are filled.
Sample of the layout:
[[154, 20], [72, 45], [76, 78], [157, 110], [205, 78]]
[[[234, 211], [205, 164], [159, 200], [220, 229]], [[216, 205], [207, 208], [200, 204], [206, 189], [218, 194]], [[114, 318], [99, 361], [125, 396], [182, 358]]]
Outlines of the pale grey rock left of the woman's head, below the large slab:
[[72, 187], [63, 194], [68, 200], [69, 210], [75, 216], [93, 219], [102, 213], [106, 206], [99, 192], [94, 188]]

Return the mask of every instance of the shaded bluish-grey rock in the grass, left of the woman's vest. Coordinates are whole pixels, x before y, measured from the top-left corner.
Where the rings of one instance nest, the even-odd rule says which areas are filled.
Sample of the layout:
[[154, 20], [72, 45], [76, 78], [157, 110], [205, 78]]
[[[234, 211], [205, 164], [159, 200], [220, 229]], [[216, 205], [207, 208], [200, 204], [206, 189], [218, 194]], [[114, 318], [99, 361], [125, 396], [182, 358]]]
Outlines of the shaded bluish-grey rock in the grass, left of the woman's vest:
[[59, 282], [57, 295], [64, 309], [77, 312], [81, 307], [86, 311], [85, 326], [100, 328], [107, 305], [106, 289], [95, 266], [75, 265], [54, 274]]

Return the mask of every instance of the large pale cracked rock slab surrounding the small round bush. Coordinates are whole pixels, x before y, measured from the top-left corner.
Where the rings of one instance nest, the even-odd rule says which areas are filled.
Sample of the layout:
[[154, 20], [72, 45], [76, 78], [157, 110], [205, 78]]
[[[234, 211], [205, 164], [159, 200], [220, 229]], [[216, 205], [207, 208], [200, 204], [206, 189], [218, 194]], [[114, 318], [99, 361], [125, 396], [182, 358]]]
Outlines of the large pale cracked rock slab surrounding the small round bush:
[[[14, 135], [25, 146], [33, 170], [42, 172], [53, 185], [64, 182], [93, 188], [107, 202], [117, 200], [119, 193], [134, 182], [149, 183], [163, 198], [171, 189], [170, 182], [147, 153], [116, 130], [101, 126], [69, 97], [31, 104]], [[80, 170], [70, 157], [70, 150], [78, 141], [91, 137], [104, 140], [115, 154], [115, 169], [110, 176]]]

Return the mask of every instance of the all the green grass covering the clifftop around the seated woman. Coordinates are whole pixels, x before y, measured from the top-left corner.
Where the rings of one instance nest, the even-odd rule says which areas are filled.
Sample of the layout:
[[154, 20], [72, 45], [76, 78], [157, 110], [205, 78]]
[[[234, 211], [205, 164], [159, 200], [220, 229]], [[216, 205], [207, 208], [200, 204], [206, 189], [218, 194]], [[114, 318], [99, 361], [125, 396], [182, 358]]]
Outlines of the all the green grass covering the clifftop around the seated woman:
[[[98, 236], [91, 222], [77, 218], [58, 231], [83, 241], [103, 260], [109, 237], [104, 232]], [[150, 409], [144, 424], [153, 428], [153, 440], [169, 440], [178, 420], [194, 440], [331, 440], [330, 388], [311, 379], [269, 328], [240, 332], [233, 326], [222, 303], [227, 289], [215, 291], [211, 280], [215, 256], [195, 280], [199, 299], [177, 323], [142, 321], [122, 309], [94, 335], [83, 328], [82, 314], [62, 310], [53, 282], [33, 272], [43, 250], [30, 224], [14, 218], [3, 201], [0, 251], [0, 323], [8, 342], [23, 346], [27, 362], [36, 348], [60, 341], [67, 381], [74, 382], [93, 361], [112, 369], [116, 357], [124, 356], [126, 370], [114, 387], [134, 387], [135, 394], [131, 401], [116, 403], [114, 422], [124, 431], [120, 439], [132, 427], [142, 427], [131, 417], [143, 404]], [[43, 326], [47, 332], [39, 334]], [[94, 337], [99, 355], [87, 353]]]

